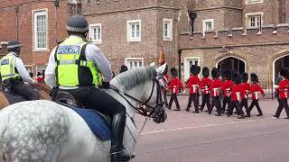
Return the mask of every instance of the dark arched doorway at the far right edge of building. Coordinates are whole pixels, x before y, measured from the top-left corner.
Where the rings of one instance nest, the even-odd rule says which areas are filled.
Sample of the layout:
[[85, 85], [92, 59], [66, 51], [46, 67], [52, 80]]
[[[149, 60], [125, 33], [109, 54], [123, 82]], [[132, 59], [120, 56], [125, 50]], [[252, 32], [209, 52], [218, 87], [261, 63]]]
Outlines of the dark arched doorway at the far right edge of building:
[[282, 67], [289, 68], [289, 54], [284, 55], [279, 58], [275, 58], [273, 62], [273, 82], [276, 82], [276, 79], [278, 77], [278, 73], [280, 72]]

